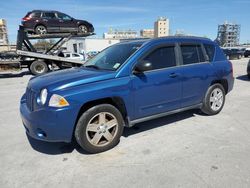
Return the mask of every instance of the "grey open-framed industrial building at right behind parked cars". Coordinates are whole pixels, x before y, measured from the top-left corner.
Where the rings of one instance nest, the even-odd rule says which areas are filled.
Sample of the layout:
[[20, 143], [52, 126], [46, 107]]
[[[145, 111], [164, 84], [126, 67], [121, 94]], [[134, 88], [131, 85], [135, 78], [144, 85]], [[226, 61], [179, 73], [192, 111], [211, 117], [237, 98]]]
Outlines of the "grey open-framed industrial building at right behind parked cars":
[[217, 41], [222, 47], [238, 46], [240, 41], [240, 25], [228, 22], [219, 25]]

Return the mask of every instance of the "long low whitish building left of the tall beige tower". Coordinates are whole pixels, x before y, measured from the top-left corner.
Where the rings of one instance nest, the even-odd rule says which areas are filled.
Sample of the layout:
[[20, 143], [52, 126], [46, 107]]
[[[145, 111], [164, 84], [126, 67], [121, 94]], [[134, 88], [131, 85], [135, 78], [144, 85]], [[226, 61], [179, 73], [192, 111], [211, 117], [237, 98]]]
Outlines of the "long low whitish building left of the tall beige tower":
[[104, 39], [133, 39], [138, 38], [137, 31], [135, 30], [113, 30], [110, 29], [107, 33], [103, 34]]

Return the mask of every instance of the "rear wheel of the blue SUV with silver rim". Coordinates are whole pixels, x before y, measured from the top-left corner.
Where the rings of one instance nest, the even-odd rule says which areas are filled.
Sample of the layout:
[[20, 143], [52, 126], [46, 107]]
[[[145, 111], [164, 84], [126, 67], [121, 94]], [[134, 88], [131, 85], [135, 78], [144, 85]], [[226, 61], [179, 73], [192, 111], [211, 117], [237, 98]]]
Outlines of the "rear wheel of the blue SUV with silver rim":
[[214, 84], [207, 90], [201, 111], [207, 115], [218, 114], [225, 103], [225, 90], [221, 84]]

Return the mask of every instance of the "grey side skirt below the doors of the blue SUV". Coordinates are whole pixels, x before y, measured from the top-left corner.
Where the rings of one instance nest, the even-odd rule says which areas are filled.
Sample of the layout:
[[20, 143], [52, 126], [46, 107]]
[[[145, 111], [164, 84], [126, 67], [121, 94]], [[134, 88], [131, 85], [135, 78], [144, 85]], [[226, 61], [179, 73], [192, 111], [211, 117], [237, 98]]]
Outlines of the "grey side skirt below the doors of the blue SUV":
[[199, 109], [201, 107], [202, 107], [202, 103], [196, 104], [196, 105], [193, 105], [193, 106], [188, 106], [188, 107], [176, 109], [176, 110], [172, 110], [172, 111], [168, 111], [168, 112], [164, 112], [164, 113], [160, 113], [160, 114], [155, 114], [155, 115], [152, 115], [152, 116], [143, 117], [143, 118], [140, 118], [140, 119], [135, 119], [135, 120], [129, 121], [128, 127], [132, 127], [135, 124], [141, 123], [141, 122], [144, 122], [144, 121], [157, 119], [157, 118], [160, 118], [160, 117], [164, 117], [164, 116], [171, 115], [171, 114], [176, 114], [176, 113], [191, 110], [191, 109]]

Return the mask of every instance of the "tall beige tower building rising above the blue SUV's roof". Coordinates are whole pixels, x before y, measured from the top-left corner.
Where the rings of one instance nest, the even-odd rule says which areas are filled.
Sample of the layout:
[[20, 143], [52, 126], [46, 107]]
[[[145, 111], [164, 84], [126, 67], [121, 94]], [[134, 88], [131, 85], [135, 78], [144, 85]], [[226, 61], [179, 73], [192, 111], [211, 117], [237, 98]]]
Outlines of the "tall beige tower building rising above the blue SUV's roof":
[[160, 17], [154, 24], [154, 37], [169, 36], [169, 19]]

